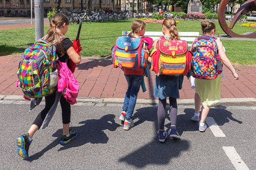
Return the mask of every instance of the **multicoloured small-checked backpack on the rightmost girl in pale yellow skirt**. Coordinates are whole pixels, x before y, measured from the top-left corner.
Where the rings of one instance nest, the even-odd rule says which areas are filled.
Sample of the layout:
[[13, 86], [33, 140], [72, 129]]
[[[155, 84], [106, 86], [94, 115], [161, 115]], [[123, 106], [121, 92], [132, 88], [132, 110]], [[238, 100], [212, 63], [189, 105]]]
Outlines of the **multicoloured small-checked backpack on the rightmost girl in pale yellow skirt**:
[[[215, 79], [222, 72], [222, 62], [217, 58], [217, 43], [213, 37], [202, 35], [192, 44], [193, 77], [198, 79]], [[221, 65], [221, 70], [217, 65]]]

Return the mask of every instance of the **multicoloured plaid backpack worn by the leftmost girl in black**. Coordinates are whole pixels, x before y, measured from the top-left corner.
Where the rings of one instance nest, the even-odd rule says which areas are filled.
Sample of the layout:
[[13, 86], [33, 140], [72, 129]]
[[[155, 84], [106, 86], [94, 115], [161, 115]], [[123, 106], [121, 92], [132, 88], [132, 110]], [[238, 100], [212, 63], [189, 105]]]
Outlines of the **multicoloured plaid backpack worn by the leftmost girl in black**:
[[25, 97], [48, 96], [57, 90], [57, 60], [56, 47], [49, 41], [39, 40], [25, 49], [17, 71]]

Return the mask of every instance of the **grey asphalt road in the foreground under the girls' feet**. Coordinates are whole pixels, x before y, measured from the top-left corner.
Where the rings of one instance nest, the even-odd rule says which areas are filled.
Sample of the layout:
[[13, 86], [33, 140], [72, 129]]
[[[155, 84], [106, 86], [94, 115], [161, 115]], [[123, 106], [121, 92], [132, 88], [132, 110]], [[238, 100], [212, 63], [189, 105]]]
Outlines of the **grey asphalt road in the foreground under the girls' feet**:
[[125, 131], [118, 120], [122, 105], [80, 104], [72, 106], [72, 125], [79, 133], [76, 139], [64, 147], [59, 144], [58, 106], [49, 126], [34, 135], [29, 159], [23, 160], [16, 153], [16, 138], [27, 132], [43, 106], [28, 112], [29, 105], [2, 102], [0, 169], [235, 169], [223, 147], [234, 147], [240, 156], [233, 157], [238, 167], [244, 163], [256, 169], [255, 110], [249, 107], [211, 109], [208, 117], [226, 136], [217, 138], [210, 128], [198, 132], [198, 123], [190, 121], [193, 106], [180, 105], [177, 131], [181, 139], [167, 138], [162, 144], [157, 137], [156, 107], [137, 105], [135, 126]]

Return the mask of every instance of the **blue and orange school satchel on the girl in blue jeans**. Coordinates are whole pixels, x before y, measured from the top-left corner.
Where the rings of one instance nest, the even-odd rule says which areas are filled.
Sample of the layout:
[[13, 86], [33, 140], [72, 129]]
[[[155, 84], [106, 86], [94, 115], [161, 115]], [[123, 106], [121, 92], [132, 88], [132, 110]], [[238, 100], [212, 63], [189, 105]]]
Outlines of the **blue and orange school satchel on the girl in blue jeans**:
[[136, 69], [137, 64], [140, 64], [140, 68], [145, 68], [148, 61], [148, 50], [145, 50], [145, 45], [141, 38], [118, 37], [112, 47], [113, 66]]

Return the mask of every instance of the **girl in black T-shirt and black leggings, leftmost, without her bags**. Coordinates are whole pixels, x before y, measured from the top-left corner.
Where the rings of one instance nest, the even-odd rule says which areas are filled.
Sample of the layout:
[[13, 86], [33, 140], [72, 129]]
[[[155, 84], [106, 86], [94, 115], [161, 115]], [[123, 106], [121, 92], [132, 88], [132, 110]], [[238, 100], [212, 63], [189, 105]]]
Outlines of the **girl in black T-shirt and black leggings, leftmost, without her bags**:
[[[69, 27], [69, 20], [64, 14], [57, 13], [55, 14], [50, 22], [50, 28], [47, 31], [47, 35], [43, 37], [43, 40], [52, 42], [55, 44], [57, 48], [57, 55], [59, 57], [60, 62], [68, 62], [69, 59], [75, 64], [80, 64], [81, 55], [80, 53], [76, 53], [73, 48], [73, 43], [69, 38], [64, 37]], [[22, 136], [19, 136], [16, 139], [17, 142], [17, 154], [19, 156], [28, 159], [28, 149], [30, 147], [31, 142], [33, 141], [33, 135], [40, 129], [43, 124], [43, 121], [46, 118], [46, 115], [52, 108], [55, 103], [56, 93], [53, 93], [49, 96], [45, 97], [45, 108], [37, 115], [33, 124], [30, 126], [30, 129]], [[76, 138], [78, 132], [76, 130], [69, 129], [70, 124], [70, 103], [66, 101], [66, 99], [61, 94], [60, 97], [60, 105], [62, 111], [62, 123], [63, 123], [63, 136], [60, 139], [60, 144], [68, 144], [72, 139]], [[45, 137], [47, 138], [47, 137]]]

